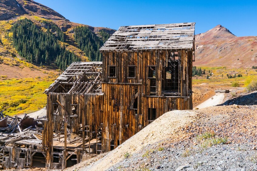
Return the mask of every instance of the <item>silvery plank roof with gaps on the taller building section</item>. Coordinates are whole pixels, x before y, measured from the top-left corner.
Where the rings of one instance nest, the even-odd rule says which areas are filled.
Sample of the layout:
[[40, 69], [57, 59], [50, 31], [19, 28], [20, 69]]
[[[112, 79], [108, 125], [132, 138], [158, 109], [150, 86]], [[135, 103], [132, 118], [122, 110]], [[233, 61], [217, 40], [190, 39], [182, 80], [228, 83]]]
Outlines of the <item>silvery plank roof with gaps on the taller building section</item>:
[[193, 48], [195, 23], [121, 26], [101, 52]]

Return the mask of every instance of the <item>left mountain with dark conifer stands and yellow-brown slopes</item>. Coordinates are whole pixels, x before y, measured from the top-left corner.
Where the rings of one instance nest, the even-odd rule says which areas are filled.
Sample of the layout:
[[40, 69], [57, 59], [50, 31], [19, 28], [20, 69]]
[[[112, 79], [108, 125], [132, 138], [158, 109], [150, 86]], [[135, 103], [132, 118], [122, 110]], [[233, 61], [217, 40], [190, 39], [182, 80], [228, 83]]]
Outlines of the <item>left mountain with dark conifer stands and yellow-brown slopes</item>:
[[99, 48], [114, 31], [71, 22], [32, 0], [0, 0], [0, 75], [34, 77], [73, 61], [101, 61]]

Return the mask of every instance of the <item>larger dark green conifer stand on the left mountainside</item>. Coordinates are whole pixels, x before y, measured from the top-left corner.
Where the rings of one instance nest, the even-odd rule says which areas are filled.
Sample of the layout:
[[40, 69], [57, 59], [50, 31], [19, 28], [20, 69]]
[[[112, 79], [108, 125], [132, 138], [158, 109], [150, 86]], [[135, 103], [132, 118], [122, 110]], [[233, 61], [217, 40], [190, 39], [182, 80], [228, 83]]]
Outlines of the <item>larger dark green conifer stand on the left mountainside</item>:
[[[53, 32], [57, 34], [54, 35]], [[72, 62], [80, 61], [73, 52], [61, 47], [58, 40], [64, 41], [64, 34], [54, 24], [48, 24], [47, 31], [43, 32], [29, 19], [19, 20], [12, 27], [12, 39], [19, 55], [34, 64], [42, 65], [55, 61], [55, 64], [64, 70]]]

